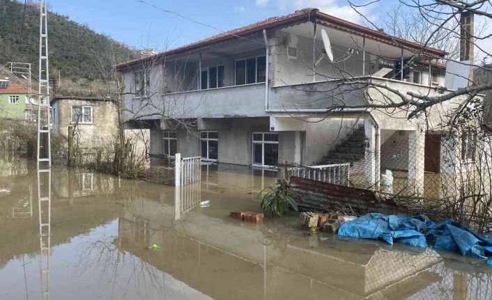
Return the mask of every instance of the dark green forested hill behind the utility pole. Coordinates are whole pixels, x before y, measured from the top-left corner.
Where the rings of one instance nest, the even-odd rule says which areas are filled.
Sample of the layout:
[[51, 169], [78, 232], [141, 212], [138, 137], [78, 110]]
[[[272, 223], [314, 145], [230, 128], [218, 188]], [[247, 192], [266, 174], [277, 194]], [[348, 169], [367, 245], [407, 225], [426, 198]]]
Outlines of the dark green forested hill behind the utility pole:
[[[79, 0], [83, 1], [83, 0]], [[0, 0], [0, 65], [8, 61], [33, 63], [38, 70], [39, 1]], [[24, 15], [24, 17], [23, 17]], [[24, 24], [22, 20], [24, 19]], [[67, 16], [49, 13], [50, 74], [63, 79], [100, 79], [102, 68], [137, 57], [130, 47], [95, 33]]]

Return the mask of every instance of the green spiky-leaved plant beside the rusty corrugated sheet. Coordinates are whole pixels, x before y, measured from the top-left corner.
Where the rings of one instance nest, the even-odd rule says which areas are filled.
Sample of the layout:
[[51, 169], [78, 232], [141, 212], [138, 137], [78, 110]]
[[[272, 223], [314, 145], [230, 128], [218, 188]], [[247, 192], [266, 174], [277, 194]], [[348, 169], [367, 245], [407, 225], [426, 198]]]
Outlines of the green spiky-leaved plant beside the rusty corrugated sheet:
[[[263, 194], [263, 191], [267, 191]], [[289, 207], [298, 211], [298, 204], [295, 202], [297, 193], [291, 190], [291, 185], [285, 179], [278, 179], [275, 185], [263, 189], [263, 198], [261, 199], [261, 208], [267, 216], [284, 216]], [[260, 195], [261, 195], [260, 194]]]

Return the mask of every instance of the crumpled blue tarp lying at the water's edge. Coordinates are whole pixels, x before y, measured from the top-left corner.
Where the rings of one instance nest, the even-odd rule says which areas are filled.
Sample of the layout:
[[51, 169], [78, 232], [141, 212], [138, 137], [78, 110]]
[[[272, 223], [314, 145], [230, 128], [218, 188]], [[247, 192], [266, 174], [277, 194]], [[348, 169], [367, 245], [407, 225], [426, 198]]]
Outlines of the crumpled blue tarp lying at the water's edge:
[[431, 247], [459, 251], [470, 258], [486, 259], [492, 265], [492, 237], [446, 220], [434, 223], [424, 214], [415, 216], [370, 213], [344, 223], [338, 230], [341, 237], [382, 239], [388, 244]]

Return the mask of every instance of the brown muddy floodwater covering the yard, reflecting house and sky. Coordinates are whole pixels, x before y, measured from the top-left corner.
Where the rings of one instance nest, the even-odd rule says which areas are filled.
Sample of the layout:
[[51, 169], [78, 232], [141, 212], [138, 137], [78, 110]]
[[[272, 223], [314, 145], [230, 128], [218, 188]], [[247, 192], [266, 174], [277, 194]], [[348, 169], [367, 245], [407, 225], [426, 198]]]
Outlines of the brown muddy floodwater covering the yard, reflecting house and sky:
[[202, 166], [178, 193], [68, 168], [39, 176], [50, 197], [35, 164], [0, 161], [2, 300], [492, 299], [492, 268], [456, 255], [308, 237], [297, 214], [231, 219], [259, 211], [272, 171]]

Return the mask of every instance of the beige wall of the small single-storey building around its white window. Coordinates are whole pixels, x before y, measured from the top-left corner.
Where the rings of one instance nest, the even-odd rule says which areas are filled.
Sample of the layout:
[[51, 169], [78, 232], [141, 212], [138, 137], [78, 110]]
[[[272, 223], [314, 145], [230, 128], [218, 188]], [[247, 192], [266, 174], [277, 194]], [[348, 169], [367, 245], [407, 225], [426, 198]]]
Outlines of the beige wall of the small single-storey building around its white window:
[[118, 114], [116, 105], [109, 101], [91, 100], [57, 100], [58, 132], [68, 136], [68, 126], [72, 123], [72, 106], [92, 106], [93, 123], [78, 124], [79, 142], [82, 143], [112, 143], [118, 134]]

